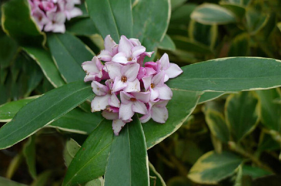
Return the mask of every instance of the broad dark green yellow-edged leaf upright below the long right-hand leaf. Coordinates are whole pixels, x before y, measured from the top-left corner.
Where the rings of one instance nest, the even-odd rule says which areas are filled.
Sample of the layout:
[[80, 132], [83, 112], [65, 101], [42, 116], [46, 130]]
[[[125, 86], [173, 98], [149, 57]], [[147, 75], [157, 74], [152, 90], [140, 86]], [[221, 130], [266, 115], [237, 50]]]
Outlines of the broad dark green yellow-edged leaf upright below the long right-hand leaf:
[[249, 134], [259, 122], [258, 99], [253, 92], [231, 94], [225, 103], [226, 123], [236, 141]]

